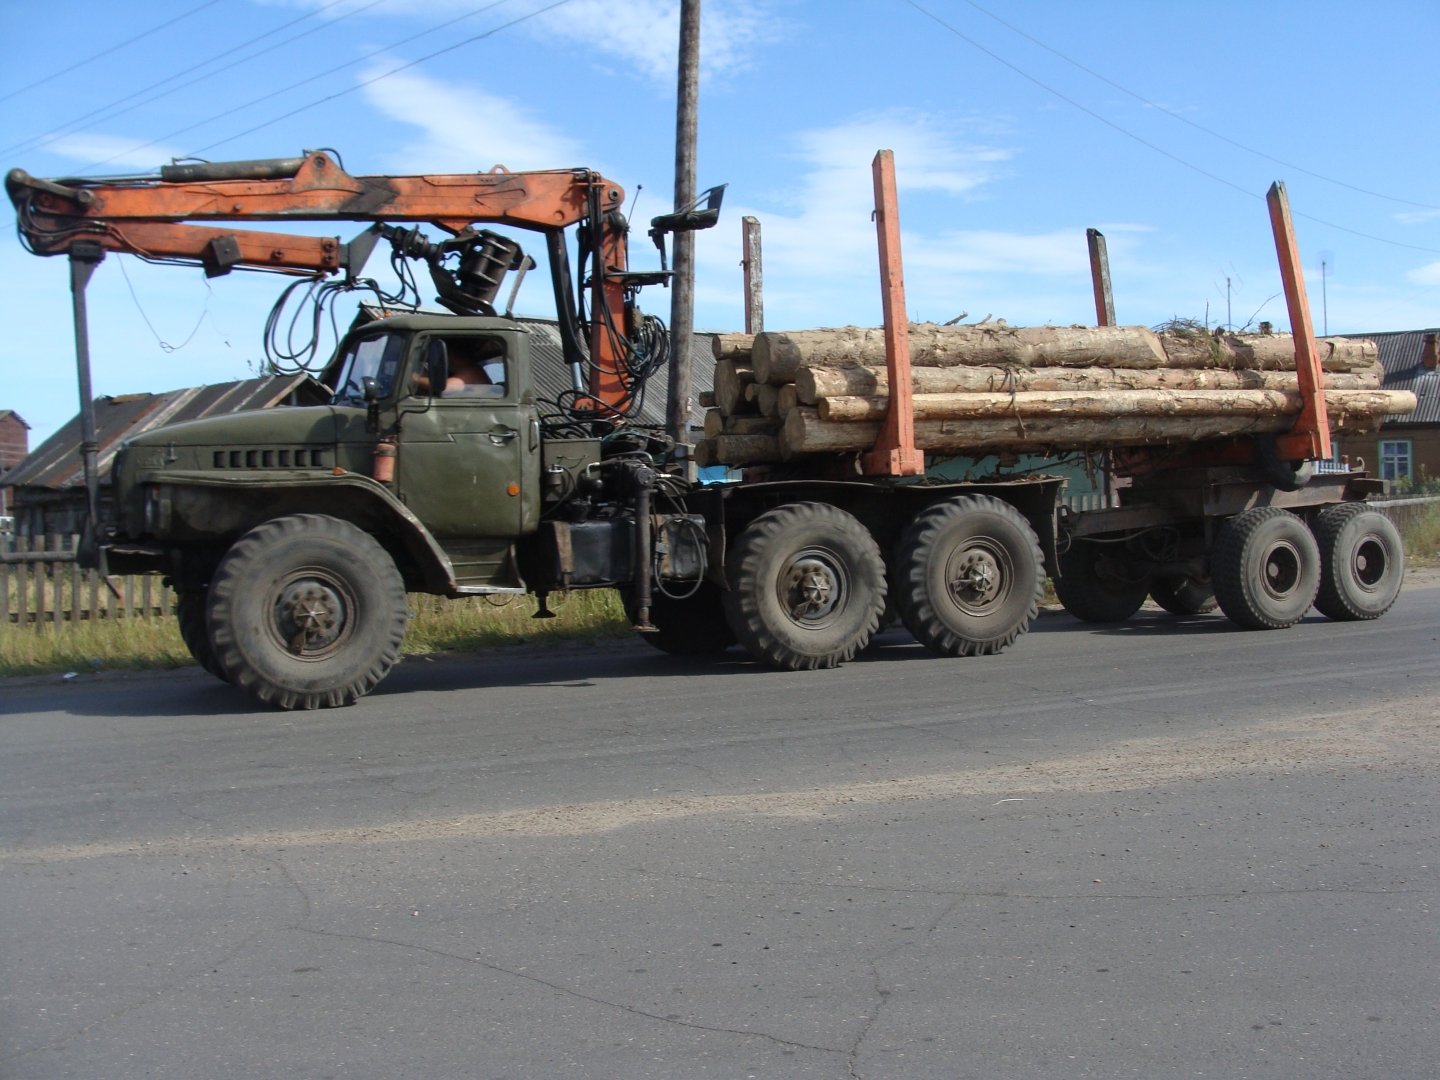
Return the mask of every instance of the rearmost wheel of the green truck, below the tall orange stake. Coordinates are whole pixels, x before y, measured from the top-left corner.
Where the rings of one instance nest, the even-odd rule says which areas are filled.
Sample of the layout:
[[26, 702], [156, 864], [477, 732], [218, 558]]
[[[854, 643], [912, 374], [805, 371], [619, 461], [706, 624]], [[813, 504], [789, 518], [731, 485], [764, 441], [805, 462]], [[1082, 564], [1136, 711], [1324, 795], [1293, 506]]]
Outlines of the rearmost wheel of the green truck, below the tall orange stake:
[[989, 495], [949, 498], [900, 539], [896, 606], [936, 655], [999, 652], [1040, 611], [1043, 562], [1034, 530], [1012, 505]]

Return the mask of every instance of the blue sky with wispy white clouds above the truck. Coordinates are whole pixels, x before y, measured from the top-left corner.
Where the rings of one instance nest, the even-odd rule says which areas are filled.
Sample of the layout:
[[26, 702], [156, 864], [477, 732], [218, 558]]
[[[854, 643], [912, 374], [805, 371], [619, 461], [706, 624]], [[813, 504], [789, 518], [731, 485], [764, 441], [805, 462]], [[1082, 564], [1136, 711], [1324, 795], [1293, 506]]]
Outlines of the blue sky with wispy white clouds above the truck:
[[[134, 176], [325, 147], [356, 176], [586, 167], [625, 189], [632, 268], [655, 268], [678, 9], [0, 0], [0, 167]], [[1119, 323], [1287, 328], [1264, 203], [1283, 180], [1316, 333], [1440, 325], [1436, 40], [1433, 0], [703, 0], [697, 183], [729, 187], [697, 235], [696, 327], [743, 328], [746, 215], [766, 328], [878, 325], [878, 150], [914, 320], [1094, 323], [1097, 228]], [[0, 281], [0, 409], [33, 448], [78, 409], [69, 271], [10, 232]], [[107, 258], [95, 393], [259, 373], [285, 284]], [[641, 304], [668, 317], [662, 289]], [[553, 312], [543, 274], [517, 312]]]

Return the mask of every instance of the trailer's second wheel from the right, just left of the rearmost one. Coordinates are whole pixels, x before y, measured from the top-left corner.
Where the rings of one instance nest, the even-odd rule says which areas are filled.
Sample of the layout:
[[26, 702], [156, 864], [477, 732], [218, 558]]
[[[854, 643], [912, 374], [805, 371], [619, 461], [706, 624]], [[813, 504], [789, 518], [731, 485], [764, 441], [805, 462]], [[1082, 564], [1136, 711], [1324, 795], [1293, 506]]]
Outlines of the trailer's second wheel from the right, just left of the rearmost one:
[[1251, 507], [1230, 518], [1210, 556], [1215, 599], [1230, 621], [1247, 629], [1293, 626], [1315, 602], [1320, 552], [1295, 514]]

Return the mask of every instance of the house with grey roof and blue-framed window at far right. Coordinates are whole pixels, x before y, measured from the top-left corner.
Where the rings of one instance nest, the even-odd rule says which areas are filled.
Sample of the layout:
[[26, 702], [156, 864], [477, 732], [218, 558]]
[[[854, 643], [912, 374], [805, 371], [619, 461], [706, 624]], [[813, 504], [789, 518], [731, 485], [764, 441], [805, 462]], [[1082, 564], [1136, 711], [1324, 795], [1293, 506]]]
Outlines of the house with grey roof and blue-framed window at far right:
[[1338, 458], [1401, 484], [1440, 480], [1440, 328], [1346, 334], [1380, 347], [1387, 390], [1410, 390], [1418, 402], [1408, 416], [1388, 416], [1375, 435], [1341, 435]]

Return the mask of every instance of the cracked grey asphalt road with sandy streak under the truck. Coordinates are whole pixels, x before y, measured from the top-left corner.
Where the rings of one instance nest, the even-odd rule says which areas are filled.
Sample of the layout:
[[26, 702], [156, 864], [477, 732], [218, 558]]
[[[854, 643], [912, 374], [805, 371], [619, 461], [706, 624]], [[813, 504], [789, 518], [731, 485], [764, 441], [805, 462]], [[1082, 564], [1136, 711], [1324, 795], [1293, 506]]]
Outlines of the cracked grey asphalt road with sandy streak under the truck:
[[0, 1077], [1436, 1077], [1437, 638], [0, 684]]

